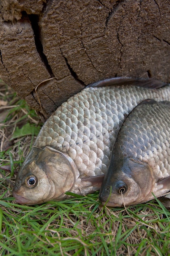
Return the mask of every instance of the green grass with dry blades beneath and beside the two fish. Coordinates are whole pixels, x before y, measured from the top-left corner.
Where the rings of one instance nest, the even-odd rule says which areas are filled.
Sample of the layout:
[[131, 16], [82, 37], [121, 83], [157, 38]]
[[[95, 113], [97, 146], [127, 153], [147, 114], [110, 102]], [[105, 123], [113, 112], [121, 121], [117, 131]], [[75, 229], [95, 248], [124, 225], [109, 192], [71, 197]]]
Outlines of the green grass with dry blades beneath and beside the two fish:
[[98, 193], [15, 204], [15, 176], [42, 122], [2, 82], [0, 102], [0, 256], [170, 255], [170, 211], [158, 199], [126, 209], [103, 207]]

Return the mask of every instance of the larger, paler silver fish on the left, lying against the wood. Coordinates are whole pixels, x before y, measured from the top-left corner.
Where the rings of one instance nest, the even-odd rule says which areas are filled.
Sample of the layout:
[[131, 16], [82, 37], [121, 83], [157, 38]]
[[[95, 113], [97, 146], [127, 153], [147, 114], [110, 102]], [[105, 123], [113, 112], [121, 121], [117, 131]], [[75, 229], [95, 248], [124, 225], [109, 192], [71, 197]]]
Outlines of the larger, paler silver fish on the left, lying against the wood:
[[98, 191], [126, 115], [144, 99], [170, 100], [153, 79], [111, 78], [88, 85], [53, 112], [18, 171], [13, 196], [40, 204]]

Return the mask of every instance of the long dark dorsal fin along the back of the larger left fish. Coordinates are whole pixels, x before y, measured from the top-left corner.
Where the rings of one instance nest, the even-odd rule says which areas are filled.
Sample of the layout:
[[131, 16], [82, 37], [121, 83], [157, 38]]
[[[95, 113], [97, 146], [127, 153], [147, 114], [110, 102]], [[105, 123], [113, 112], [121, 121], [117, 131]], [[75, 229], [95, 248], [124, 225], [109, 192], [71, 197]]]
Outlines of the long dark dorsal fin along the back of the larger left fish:
[[162, 81], [159, 81], [157, 79], [152, 79], [152, 78], [144, 79], [144, 78], [132, 78], [132, 77], [113, 77], [113, 78], [107, 78], [95, 83], [91, 83], [86, 87], [101, 87], [101, 86], [110, 86], [110, 85], [135, 85], [135, 86], [157, 89], [166, 84], [167, 83], [164, 83]]

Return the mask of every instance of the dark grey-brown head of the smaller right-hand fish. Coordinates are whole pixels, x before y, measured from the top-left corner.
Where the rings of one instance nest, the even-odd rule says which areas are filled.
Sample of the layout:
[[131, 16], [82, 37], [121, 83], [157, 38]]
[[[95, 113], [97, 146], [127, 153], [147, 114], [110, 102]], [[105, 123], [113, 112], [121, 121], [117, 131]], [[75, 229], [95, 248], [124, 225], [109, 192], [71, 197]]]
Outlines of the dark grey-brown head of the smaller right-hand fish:
[[109, 166], [101, 186], [102, 204], [121, 207], [146, 202], [155, 180], [150, 166], [128, 157], [118, 161]]

